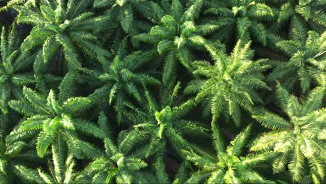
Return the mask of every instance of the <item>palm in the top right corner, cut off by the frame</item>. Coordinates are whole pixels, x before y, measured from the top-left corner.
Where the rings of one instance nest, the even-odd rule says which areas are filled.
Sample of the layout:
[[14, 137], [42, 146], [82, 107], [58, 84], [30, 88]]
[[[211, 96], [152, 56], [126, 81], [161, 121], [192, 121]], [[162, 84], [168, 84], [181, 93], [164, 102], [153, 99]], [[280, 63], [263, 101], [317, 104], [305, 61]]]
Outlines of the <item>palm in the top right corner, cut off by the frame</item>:
[[[318, 33], [323, 33], [326, 29], [325, 1], [286, 1], [279, 11], [277, 22], [286, 23], [305, 20], [312, 29]], [[291, 23], [292, 24], [292, 23]]]

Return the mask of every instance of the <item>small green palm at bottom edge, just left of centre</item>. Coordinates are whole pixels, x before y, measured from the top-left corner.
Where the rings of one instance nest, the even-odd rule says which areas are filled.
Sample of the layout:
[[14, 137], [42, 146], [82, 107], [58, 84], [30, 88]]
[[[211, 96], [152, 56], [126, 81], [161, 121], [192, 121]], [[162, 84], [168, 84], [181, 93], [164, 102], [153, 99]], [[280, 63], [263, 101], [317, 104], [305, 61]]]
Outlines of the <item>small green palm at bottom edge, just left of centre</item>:
[[[86, 168], [88, 175], [93, 176], [91, 182], [147, 183], [146, 178], [137, 175], [143, 167], [147, 167], [146, 162], [134, 156], [137, 148], [135, 149], [133, 145], [139, 140], [137, 132], [127, 134], [123, 131], [118, 135], [118, 141], [115, 143], [114, 139], [111, 138], [112, 131], [104, 113], [100, 113], [98, 123], [105, 132], [105, 154], [96, 158]], [[81, 178], [83, 177], [79, 179]], [[81, 181], [85, 182], [87, 178], [84, 177]]]

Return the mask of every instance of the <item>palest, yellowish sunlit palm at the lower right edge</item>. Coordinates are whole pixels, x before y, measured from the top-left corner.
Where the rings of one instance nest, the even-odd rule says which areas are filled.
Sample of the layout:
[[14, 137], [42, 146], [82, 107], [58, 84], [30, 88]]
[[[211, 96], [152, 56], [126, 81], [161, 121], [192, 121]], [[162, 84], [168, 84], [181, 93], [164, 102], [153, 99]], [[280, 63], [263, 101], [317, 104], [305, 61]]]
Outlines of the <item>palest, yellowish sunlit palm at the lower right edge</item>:
[[[258, 137], [251, 150], [273, 149], [279, 153], [273, 162], [274, 172], [284, 171], [287, 166], [295, 182], [300, 182], [305, 175], [310, 175], [314, 183], [323, 182], [326, 109], [320, 109], [320, 106], [324, 95], [325, 88], [316, 88], [310, 92], [307, 100], [300, 104], [294, 95], [290, 95], [278, 84], [279, 106], [287, 117], [265, 110], [253, 116], [272, 131]], [[310, 171], [306, 171], [307, 167]]]

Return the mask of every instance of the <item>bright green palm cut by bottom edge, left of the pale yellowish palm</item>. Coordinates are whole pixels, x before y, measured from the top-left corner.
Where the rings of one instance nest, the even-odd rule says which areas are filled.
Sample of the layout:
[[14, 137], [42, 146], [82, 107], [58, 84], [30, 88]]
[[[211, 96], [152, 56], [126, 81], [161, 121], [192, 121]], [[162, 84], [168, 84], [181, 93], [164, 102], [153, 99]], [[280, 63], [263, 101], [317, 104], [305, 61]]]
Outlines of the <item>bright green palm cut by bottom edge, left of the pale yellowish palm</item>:
[[187, 160], [194, 162], [201, 168], [198, 172], [192, 174], [187, 183], [200, 183], [207, 179], [207, 183], [268, 183], [260, 176], [254, 167], [263, 161], [268, 160], [272, 154], [269, 152], [255, 154], [249, 153], [241, 156], [242, 150], [247, 144], [251, 126], [231, 141], [227, 148], [224, 146], [223, 137], [212, 123], [213, 147], [217, 153], [216, 157], [208, 154], [198, 155], [194, 152], [185, 151]]

